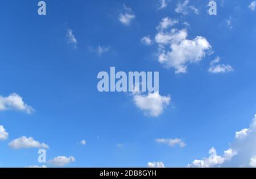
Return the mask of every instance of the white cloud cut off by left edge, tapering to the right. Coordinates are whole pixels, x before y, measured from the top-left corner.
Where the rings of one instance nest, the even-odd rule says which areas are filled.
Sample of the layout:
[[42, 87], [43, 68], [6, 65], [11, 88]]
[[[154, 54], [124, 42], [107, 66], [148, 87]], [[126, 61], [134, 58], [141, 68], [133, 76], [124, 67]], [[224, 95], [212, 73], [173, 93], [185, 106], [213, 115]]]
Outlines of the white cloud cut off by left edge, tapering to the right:
[[22, 97], [16, 93], [10, 94], [8, 97], [2, 97], [0, 95], [0, 111], [5, 110], [25, 111], [28, 114], [34, 111], [34, 109], [24, 103]]

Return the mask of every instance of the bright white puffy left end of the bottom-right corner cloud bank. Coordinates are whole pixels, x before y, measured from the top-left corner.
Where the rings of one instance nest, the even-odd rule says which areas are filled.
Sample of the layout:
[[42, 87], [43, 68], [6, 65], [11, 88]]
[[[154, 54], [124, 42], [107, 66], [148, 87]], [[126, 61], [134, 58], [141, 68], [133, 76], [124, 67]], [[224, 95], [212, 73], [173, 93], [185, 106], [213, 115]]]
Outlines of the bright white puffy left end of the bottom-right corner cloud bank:
[[215, 148], [211, 148], [209, 150], [209, 154], [210, 156], [208, 158], [202, 160], [194, 160], [192, 164], [189, 164], [188, 166], [195, 168], [209, 168], [224, 163], [225, 158], [218, 156]]

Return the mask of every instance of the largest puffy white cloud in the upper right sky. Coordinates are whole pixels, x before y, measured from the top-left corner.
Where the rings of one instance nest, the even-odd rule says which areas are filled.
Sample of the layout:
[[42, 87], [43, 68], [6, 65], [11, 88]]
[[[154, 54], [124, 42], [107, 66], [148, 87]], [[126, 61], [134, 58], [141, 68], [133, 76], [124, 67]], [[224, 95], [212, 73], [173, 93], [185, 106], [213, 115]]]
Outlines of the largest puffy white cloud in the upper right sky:
[[[155, 36], [159, 46], [158, 61], [167, 68], [175, 68], [175, 73], [186, 73], [187, 64], [197, 63], [205, 57], [212, 48], [207, 39], [197, 36], [193, 40], [187, 39], [187, 30], [172, 29], [170, 33], [158, 32]], [[169, 44], [170, 51], [163, 45]]]

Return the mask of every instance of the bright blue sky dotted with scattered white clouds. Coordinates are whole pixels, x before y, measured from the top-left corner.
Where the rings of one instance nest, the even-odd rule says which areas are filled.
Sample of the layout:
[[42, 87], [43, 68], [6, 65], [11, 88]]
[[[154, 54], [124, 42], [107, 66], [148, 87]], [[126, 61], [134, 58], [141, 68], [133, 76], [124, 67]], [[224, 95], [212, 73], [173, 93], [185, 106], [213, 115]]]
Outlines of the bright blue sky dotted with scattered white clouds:
[[[0, 167], [256, 166], [253, 0], [45, 2], [1, 2]], [[157, 100], [100, 93], [110, 66], [159, 72]]]

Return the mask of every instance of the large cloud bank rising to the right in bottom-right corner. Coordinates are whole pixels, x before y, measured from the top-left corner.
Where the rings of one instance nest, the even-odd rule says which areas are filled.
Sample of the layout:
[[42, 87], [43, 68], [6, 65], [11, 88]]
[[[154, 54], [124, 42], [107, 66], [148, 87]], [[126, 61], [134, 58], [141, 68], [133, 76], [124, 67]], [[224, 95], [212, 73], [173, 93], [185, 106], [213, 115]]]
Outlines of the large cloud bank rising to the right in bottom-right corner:
[[249, 128], [244, 128], [235, 133], [235, 138], [230, 143], [230, 148], [222, 156], [217, 155], [216, 149], [211, 148], [210, 156], [201, 160], [194, 160], [189, 167], [256, 167], [256, 114]]

